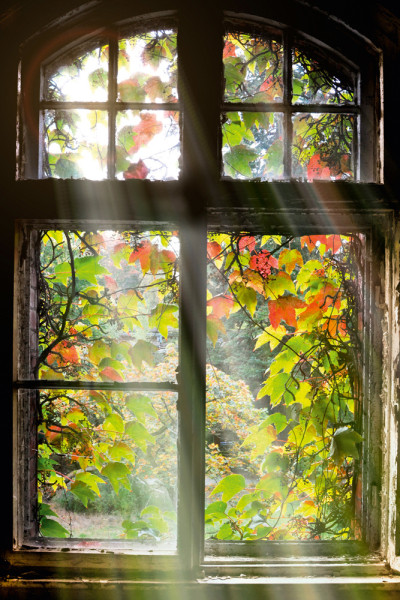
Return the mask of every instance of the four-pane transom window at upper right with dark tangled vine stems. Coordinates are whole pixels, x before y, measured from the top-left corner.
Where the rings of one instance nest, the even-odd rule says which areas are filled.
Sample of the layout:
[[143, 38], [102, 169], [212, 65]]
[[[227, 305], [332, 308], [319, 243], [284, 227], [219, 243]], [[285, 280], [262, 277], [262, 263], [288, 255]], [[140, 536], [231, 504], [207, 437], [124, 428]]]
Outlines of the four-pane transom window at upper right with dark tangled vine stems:
[[228, 27], [223, 173], [234, 179], [357, 179], [356, 74], [299, 37]]

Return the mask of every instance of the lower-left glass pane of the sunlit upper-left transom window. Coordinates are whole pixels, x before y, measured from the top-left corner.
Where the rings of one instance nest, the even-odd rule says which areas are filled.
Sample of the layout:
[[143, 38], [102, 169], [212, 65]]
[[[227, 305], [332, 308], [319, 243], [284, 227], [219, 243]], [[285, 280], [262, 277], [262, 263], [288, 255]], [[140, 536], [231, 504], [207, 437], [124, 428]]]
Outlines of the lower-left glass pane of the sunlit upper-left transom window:
[[108, 117], [102, 110], [43, 112], [43, 176], [60, 179], [107, 177]]

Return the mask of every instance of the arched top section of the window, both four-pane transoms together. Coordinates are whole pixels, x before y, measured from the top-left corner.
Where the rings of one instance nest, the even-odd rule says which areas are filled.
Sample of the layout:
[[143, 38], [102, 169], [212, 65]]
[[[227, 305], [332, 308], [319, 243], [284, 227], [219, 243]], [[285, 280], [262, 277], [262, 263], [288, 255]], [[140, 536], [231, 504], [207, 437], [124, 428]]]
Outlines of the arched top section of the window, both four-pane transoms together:
[[[39, 143], [33, 149], [36, 136], [25, 127], [24, 175], [179, 179], [187, 148], [178, 36], [170, 17], [141, 20], [43, 61], [33, 117]], [[214, 56], [221, 76], [214, 161], [223, 179], [376, 179], [375, 101], [365, 109], [354, 63], [291, 27], [232, 17], [222, 46]], [[190, 77], [196, 73], [185, 72], [186, 89]]]

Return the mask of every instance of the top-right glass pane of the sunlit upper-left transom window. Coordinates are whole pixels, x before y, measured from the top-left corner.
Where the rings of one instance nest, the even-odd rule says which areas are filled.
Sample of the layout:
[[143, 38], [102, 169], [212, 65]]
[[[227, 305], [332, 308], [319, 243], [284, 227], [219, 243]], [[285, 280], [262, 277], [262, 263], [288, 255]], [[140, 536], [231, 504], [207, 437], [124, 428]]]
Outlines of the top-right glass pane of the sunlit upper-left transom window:
[[177, 47], [172, 30], [127, 37], [118, 44], [118, 100], [177, 102]]

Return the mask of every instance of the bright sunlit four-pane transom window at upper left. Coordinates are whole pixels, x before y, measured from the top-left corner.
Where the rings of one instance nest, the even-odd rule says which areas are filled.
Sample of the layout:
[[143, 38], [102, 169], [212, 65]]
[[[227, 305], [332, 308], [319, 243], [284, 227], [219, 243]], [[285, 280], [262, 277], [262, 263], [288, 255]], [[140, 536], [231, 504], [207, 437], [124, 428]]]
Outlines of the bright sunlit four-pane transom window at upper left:
[[43, 69], [41, 176], [177, 179], [176, 31], [128, 32]]

